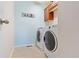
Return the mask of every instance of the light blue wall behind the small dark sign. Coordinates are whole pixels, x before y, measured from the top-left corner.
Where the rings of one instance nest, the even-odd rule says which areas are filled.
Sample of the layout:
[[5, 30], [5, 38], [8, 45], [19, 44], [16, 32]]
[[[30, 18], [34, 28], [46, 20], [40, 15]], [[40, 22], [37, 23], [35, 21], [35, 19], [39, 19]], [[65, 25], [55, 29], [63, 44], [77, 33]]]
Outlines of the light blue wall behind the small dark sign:
[[[34, 18], [22, 17], [21, 13], [33, 13]], [[15, 2], [15, 45], [33, 44], [38, 27], [44, 27], [44, 11], [33, 2]]]

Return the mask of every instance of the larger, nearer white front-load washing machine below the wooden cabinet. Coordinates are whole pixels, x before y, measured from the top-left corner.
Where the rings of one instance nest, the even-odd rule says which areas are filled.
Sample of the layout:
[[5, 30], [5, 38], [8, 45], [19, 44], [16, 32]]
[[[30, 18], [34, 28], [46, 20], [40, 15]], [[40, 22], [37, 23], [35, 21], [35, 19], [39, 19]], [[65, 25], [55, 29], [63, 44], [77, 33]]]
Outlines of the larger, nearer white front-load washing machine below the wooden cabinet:
[[51, 25], [44, 30], [43, 36], [44, 53], [52, 57], [58, 48], [58, 29], [57, 26]]

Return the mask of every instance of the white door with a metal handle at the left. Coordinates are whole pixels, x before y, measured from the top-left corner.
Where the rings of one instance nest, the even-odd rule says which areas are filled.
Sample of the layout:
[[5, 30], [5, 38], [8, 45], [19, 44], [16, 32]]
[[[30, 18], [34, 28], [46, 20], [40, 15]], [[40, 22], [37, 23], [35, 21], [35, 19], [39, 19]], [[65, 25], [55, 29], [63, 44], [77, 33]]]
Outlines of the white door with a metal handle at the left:
[[9, 57], [14, 44], [13, 10], [13, 2], [0, 2], [0, 58]]

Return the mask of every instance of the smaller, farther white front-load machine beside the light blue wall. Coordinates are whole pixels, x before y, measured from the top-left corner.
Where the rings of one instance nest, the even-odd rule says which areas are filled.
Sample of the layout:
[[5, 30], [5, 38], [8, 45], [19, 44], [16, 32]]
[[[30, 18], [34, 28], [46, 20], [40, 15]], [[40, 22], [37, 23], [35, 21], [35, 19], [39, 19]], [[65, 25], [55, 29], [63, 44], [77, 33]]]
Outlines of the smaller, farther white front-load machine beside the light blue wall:
[[42, 36], [44, 33], [44, 28], [43, 27], [39, 27], [37, 29], [37, 34], [36, 34], [36, 46], [40, 49], [43, 50], [43, 40], [42, 40]]

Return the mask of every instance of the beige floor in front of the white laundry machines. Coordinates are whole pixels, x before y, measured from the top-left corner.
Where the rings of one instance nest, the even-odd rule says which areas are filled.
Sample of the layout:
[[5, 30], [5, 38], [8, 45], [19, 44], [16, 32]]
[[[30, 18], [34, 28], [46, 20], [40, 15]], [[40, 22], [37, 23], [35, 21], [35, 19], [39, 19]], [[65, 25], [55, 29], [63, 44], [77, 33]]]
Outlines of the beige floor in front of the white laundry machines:
[[15, 48], [12, 58], [46, 58], [46, 55], [36, 46], [28, 46]]

